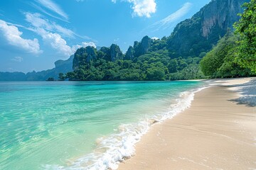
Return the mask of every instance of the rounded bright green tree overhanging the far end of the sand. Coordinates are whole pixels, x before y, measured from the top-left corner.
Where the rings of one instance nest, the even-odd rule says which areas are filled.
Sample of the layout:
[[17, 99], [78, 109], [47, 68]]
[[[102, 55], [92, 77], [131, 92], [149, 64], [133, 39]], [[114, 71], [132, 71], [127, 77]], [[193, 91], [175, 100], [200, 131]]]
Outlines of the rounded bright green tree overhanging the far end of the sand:
[[247, 77], [252, 76], [250, 69], [242, 68], [235, 62], [238, 53], [238, 35], [228, 32], [213, 50], [201, 60], [201, 71], [209, 77]]

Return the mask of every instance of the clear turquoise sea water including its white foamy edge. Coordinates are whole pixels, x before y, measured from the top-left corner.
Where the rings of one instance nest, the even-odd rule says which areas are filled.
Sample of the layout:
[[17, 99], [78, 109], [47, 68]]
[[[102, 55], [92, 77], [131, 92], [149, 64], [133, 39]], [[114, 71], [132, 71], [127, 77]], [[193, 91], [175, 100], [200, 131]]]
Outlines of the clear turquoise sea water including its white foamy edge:
[[201, 85], [0, 82], [0, 169], [116, 169], [154, 120], [186, 105], [189, 96], [181, 92]]

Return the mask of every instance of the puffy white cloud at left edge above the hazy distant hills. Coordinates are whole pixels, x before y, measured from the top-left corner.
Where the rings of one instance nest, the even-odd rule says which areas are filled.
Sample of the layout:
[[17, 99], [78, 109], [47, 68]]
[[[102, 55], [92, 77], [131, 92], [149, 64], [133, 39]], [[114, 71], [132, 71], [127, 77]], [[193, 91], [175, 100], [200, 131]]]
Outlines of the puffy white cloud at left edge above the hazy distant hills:
[[1, 35], [6, 39], [9, 45], [13, 45], [33, 54], [42, 52], [40, 50], [38, 39], [34, 38], [33, 40], [28, 40], [21, 38], [23, 33], [19, 31], [16, 26], [9, 26], [5, 21], [0, 20], [0, 31]]

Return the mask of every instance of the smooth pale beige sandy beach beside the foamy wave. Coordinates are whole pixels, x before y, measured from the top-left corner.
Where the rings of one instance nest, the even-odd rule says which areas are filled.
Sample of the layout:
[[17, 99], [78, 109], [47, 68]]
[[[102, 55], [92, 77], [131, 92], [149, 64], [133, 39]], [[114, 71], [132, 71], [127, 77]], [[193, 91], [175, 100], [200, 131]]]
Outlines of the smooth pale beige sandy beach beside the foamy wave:
[[233, 84], [215, 81], [183, 113], [154, 125], [119, 169], [256, 169], [256, 108], [230, 101]]

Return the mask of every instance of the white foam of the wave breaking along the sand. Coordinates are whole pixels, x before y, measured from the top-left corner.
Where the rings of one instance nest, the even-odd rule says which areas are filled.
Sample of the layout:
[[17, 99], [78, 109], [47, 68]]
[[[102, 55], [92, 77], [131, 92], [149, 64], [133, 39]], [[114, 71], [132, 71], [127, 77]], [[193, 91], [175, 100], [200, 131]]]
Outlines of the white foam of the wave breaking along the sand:
[[194, 94], [206, 88], [207, 87], [203, 87], [193, 91], [182, 92], [180, 97], [176, 99], [176, 102], [170, 106], [170, 110], [166, 113], [154, 115], [139, 123], [120, 125], [116, 134], [110, 135], [109, 137], [98, 138], [96, 141], [97, 148], [94, 152], [87, 154], [84, 157], [80, 157], [74, 162], [70, 162], [70, 166], [44, 165], [43, 169], [117, 169], [119, 162], [134, 156], [134, 145], [139, 142], [146, 132], [148, 132], [152, 124], [156, 122], [161, 123], [166, 119], [173, 118], [178, 113], [189, 108], [191, 106], [191, 101], [193, 101]]

